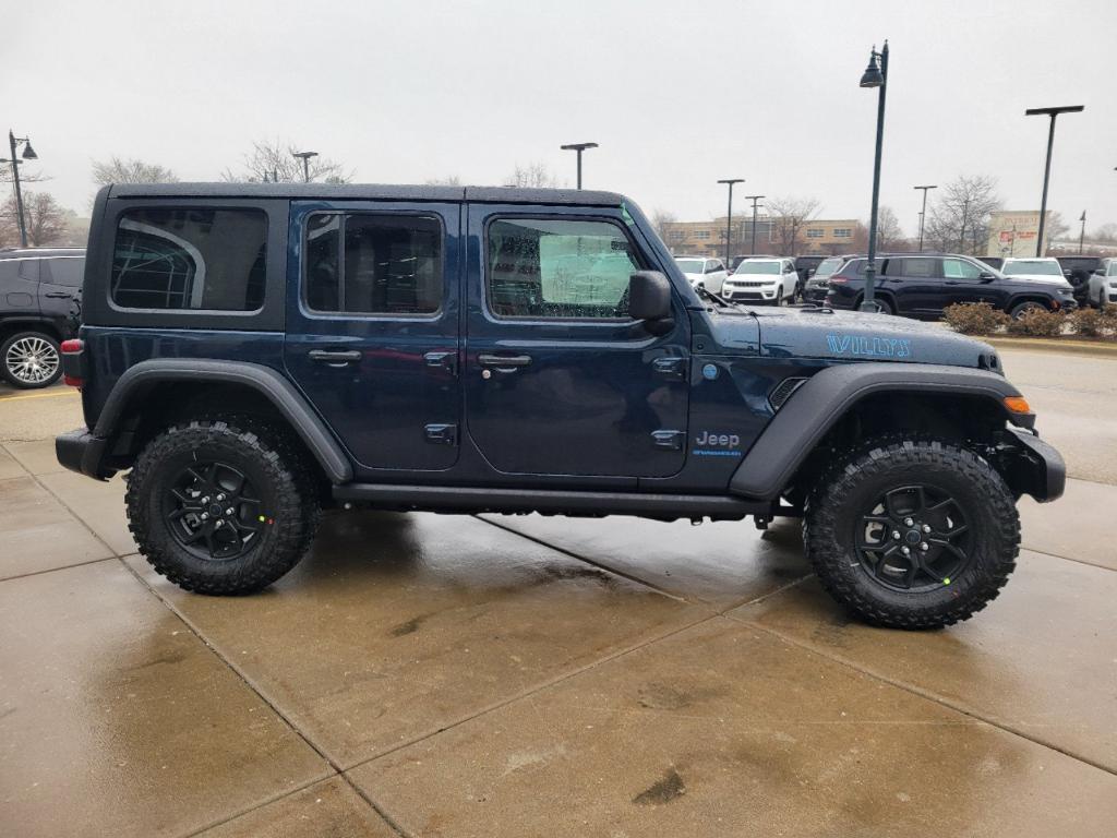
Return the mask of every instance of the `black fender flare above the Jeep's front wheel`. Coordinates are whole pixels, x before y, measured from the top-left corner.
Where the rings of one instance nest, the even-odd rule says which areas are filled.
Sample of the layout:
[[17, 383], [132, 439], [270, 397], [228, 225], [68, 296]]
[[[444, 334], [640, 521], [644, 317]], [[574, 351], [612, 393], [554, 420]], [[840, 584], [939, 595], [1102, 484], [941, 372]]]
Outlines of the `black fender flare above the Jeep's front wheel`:
[[820, 370], [787, 399], [748, 449], [729, 480], [729, 492], [779, 498], [795, 469], [855, 403], [879, 392], [978, 396], [995, 401], [1005, 419], [1031, 428], [1033, 413], [1013, 413], [1004, 399], [1020, 392], [987, 370], [941, 364], [859, 362]]

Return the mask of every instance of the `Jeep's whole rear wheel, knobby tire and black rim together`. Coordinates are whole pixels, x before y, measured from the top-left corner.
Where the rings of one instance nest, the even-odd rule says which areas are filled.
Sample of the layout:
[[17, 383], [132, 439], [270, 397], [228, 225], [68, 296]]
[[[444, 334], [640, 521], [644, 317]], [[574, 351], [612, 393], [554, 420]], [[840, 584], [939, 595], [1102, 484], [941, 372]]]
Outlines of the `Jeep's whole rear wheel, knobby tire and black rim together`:
[[275, 582], [303, 558], [319, 514], [314, 484], [281, 432], [236, 418], [156, 436], [128, 475], [126, 504], [151, 565], [211, 594]]

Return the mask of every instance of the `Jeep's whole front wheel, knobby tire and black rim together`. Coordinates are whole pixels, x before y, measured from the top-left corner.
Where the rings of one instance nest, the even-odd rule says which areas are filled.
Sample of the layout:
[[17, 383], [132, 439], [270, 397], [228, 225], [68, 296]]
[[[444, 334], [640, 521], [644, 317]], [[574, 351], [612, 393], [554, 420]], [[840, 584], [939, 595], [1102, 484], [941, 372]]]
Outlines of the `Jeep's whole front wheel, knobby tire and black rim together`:
[[872, 440], [831, 467], [806, 501], [806, 554], [861, 619], [926, 629], [992, 601], [1015, 566], [1020, 520], [996, 470], [946, 440]]

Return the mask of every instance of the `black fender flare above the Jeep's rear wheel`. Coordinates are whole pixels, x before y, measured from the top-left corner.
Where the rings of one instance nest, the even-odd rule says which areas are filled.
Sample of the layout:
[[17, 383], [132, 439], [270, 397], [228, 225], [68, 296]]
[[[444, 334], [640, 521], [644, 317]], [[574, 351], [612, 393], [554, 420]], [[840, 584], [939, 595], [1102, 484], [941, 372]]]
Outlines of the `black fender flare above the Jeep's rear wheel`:
[[251, 388], [275, 406], [295, 429], [334, 484], [353, 479], [353, 465], [322, 418], [283, 373], [245, 361], [157, 358], [130, 366], [116, 381], [97, 417], [93, 436], [109, 439], [116, 431], [128, 399], [136, 392], [166, 381], [223, 381]]

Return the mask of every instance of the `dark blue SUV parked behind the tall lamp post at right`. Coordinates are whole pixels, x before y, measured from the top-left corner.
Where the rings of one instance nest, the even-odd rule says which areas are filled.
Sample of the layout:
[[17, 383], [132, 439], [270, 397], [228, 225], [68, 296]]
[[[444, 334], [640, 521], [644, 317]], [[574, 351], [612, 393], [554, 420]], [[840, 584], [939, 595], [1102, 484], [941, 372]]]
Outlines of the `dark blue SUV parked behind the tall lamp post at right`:
[[[851, 259], [830, 277], [827, 306], [860, 306], [868, 263]], [[952, 254], [878, 256], [873, 299], [885, 314], [920, 320], [937, 320], [955, 303], [985, 302], [1013, 317], [1033, 308], [1058, 312], [1077, 306], [1067, 283], [1014, 279], [977, 259]]]

